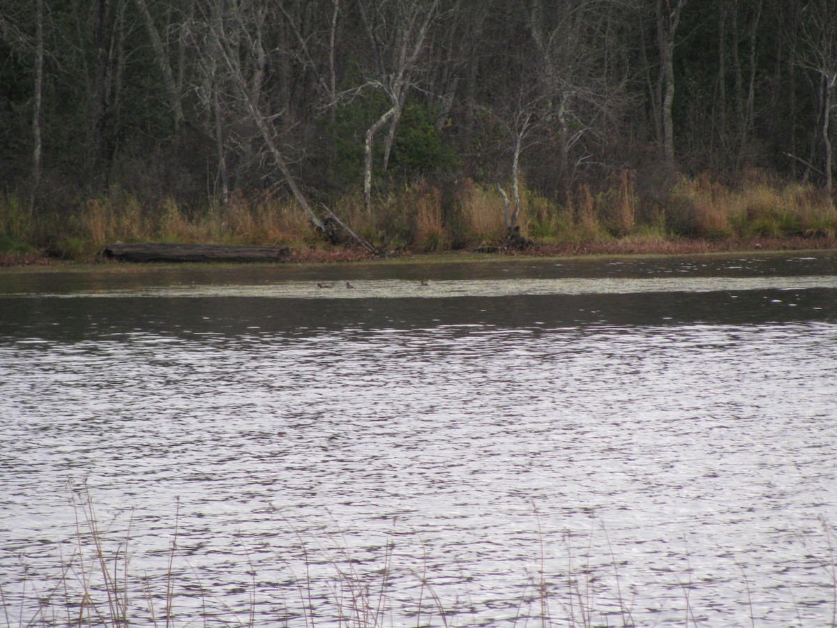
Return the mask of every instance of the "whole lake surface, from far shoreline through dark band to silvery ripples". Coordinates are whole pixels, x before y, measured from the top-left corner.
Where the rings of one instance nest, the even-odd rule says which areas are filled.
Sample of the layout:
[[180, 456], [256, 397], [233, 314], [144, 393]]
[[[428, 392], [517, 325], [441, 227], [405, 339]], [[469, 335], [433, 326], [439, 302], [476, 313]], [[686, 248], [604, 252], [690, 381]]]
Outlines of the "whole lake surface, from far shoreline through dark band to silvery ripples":
[[114, 268], [0, 274], [12, 625], [88, 497], [137, 625], [834, 625], [832, 254]]

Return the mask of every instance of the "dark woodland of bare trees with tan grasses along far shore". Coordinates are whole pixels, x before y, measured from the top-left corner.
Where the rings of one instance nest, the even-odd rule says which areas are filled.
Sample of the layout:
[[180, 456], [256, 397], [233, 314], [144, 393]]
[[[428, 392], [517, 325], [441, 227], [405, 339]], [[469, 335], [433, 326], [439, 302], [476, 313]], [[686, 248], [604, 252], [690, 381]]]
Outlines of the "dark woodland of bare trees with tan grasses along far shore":
[[834, 239], [835, 91], [834, 0], [3, 0], [0, 249]]

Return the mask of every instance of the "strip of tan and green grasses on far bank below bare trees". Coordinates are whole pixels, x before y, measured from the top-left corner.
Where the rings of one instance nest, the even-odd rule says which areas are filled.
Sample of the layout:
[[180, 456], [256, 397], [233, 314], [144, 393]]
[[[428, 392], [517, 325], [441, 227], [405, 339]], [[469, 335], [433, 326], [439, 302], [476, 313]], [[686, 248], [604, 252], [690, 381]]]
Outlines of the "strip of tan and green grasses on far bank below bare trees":
[[[682, 179], [666, 198], [634, 193], [629, 172], [598, 193], [580, 186], [561, 202], [524, 193], [521, 231], [531, 246], [506, 248], [500, 193], [466, 179], [419, 182], [366, 208], [357, 193], [332, 207], [362, 239], [388, 255], [488, 250], [530, 255], [677, 254], [725, 250], [821, 249], [837, 245], [837, 208], [819, 188], [753, 175], [736, 186], [708, 176]], [[93, 261], [110, 242], [290, 246], [298, 261], [369, 257], [346, 239], [328, 245], [285, 198], [239, 193], [193, 207], [125, 193], [49, 212], [13, 194], [0, 197], [0, 263]]]

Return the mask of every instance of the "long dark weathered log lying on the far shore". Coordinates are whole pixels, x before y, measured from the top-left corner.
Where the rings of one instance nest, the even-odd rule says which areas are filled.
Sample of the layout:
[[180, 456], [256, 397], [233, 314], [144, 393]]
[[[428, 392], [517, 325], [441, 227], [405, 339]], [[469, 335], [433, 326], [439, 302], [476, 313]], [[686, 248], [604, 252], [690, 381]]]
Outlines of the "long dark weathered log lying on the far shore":
[[287, 261], [286, 246], [170, 245], [164, 243], [105, 245], [105, 257], [131, 262], [269, 262]]

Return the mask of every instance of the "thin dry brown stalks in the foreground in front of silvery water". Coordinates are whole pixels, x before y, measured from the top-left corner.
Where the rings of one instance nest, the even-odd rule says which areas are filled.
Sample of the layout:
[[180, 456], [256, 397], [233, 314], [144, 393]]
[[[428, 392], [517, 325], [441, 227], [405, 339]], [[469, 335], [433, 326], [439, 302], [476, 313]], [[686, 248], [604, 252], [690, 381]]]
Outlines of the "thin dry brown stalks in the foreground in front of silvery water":
[[[179, 511], [179, 506], [177, 508]], [[566, 567], [561, 574], [548, 573], [543, 537], [538, 531], [532, 548], [537, 569], [521, 574], [519, 595], [489, 610], [473, 600], [476, 584], [451, 596], [449, 587], [434, 582], [434, 567], [424, 559], [419, 569], [397, 569], [393, 564], [392, 541], [377, 548], [374, 556], [360, 556], [341, 533], [306, 540], [295, 533], [301, 559], [277, 554], [275, 574], [257, 579], [252, 557], [238, 582], [224, 587], [207, 585], [196, 569], [189, 568], [182, 549], [177, 512], [166, 548], [157, 552], [154, 575], [137, 573], [131, 566], [133, 513], [127, 512], [116, 531], [116, 518], [103, 527], [89, 494], [74, 498], [76, 538], [58, 545], [58, 556], [50, 564], [22, 564], [16, 581], [0, 586], [0, 608], [8, 626], [635, 626], [635, 600], [620, 576], [623, 565], [611, 548], [607, 582], [601, 564], [591, 554], [573, 553], [570, 535], [564, 538]], [[537, 512], [536, 512], [537, 514]], [[287, 522], [286, 522], [287, 523]], [[289, 524], [290, 525], [290, 524]], [[540, 528], [540, 523], [538, 523]], [[829, 547], [833, 533], [824, 527]], [[609, 542], [608, 542], [609, 546]], [[833, 554], [833, 552], [832, 552]], [[829, 623], [837, 626], [837, 570], [834, 556], [825, 564], [832, 598]], [[747, 573], [741, 569], [749, 609], [749, 622], [757, 625], [750, 599]], [[691, 603], [696, 584], [691, 567], [677, 576], [681, 589], [680, 620], [677, 625], [706, 624], [700, 609]], [[469, 578], [462, 578], [467, 583]], [[485, 591], [479, 591], [484, 595]], [[647, 609], [645, 609], [647, 610]], [[646, 618], [647, 619], [647, 618]], [[639, 620], [641, 622], [641, 620]], [[0, 621], [0, 624], [3, 622]], [[672, 625], [669, 618], [666, 625]], [[793, 625], [808, 625], [799, 609]]]

